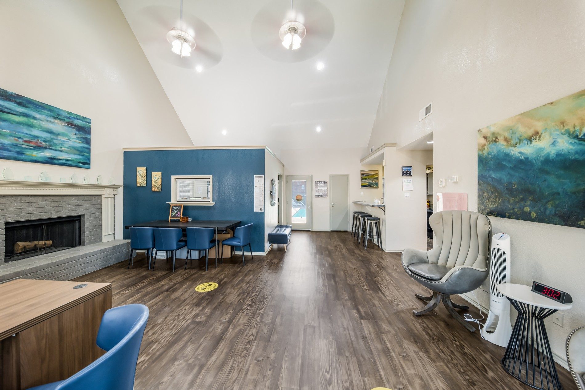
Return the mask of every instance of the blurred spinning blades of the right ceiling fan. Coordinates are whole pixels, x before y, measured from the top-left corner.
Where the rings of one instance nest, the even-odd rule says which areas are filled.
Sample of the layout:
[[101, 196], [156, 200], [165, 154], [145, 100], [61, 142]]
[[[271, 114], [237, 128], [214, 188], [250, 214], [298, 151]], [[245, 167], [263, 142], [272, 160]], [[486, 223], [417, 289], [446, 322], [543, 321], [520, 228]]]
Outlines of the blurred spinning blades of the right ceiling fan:
[[[285, 22], [295, 20], [307, 29], [300, 49], [286, 50], [278, 30]], [[331, 42], [335, 22], [325, 5], [317, 0], [295, 0], [291, 11], [288, 2], [274, 0], [260, 9], [252, 21], [252, 42], [264, 56], [275, 61], [294, 63], [308, 60]]]

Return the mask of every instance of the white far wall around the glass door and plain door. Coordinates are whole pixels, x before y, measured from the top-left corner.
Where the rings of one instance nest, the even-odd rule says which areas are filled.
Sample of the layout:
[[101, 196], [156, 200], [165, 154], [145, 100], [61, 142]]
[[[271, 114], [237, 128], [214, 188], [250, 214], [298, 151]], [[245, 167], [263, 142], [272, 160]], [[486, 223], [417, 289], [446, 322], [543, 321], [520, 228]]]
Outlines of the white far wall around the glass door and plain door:
[[[313, 175], [313, 181], [328, 181], [329, 175], [349, 175], [349, 225], [351, 228], [353, 212], [357, 210], [353, 201], [373, 201], [382, 197], [382, 188], [360, 188], [360, 170], [377, 169], [382, 173], [381, 165], [360, 164], [360, 158], [366, 153], [364, 148], [343, 149], [285, 149], [280, 152], [280, 160], [284, 164], [285, 175]], [[313, 186], [315, 183], [313, 183]], [[363, 195], [362, 195], [363, 192]], [[286, 193], [286, 189], [285, 189]], [[328, 231], [331, 229], [329, 196], [327, 198], [312, 197], [313, 226], [312, 230]], [[283, 197], [286, 204], [287, 197]], [[286, 220], [286, 219], [285, 219]]]

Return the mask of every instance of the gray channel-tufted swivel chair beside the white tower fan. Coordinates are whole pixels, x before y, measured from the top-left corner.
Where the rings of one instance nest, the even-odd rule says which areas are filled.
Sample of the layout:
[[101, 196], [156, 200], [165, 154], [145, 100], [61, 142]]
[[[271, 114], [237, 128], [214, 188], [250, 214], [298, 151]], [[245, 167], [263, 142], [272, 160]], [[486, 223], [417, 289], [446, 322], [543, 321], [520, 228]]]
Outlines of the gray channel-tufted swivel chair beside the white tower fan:
[[433, 292], [431, 296], [416, 294], [428, 304], [412, 313], [421, 316], [443, 301], [449, 313], [473, 332], [475, 328], [455, 311], [469, 307], [453, 303], [450, 295], [473, 291], [488, 277], [490, 220], [471, 211], [442, 211], [431, 215], [429, 225], [435, 233], [433, 249], [402, 252], [402, 266], [407, 274]]

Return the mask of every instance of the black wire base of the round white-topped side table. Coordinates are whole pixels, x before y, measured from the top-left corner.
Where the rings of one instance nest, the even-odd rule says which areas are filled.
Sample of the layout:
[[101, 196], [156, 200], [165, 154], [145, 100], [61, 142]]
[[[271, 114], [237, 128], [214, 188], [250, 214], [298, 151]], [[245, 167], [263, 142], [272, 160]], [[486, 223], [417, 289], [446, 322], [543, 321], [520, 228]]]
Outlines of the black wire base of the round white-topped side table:
[[543, 320], [556, 309], [539, 308], [508, 298], [518, 317], [502, 358], [502, 367], [519, 381], [539, 390], [562, 390]]

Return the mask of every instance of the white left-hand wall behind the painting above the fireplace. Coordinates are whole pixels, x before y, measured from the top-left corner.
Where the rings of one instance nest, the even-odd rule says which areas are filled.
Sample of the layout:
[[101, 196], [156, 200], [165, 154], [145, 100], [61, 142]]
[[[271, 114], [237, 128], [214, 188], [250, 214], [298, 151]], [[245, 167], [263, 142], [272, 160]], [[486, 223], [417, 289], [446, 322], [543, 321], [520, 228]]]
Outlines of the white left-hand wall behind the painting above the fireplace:
[[0, 36], [0, 88], [91, 118], [90, 170], [0, 160], [16, 180], [121, 184], [123, 147], [192, 145], [115, 0], [3, 0]]

